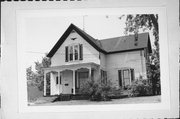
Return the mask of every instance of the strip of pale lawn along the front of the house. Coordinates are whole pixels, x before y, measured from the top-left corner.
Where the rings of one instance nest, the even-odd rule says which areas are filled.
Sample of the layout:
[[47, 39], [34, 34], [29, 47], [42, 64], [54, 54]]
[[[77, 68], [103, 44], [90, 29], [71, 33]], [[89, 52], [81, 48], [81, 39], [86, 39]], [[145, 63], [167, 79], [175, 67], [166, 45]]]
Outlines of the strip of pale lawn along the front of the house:
[[161, 102], [161, 96], [145, 96], [145, 97], [131, 97], [123, 99], [112, 99], [112, 101], [90, 101], [90, 100], [71, 100], [71, 101], [51, 101], [56, 97], [42, 97], [30, 105], [35, 106], [50, 106], [50, 105], [101, 105], [101, 104], [133, 104], [133, 103], [158, 103]]

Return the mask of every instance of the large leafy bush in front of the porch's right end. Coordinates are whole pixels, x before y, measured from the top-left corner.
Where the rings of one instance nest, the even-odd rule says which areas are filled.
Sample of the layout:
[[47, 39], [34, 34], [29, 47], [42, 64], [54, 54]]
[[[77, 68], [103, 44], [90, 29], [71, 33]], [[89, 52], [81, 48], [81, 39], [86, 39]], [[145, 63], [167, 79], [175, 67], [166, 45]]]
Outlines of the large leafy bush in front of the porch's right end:
[[80, 88], [81, 94], [87, 94], [91, 101], [109, 101], [109, 92], [113, 89], [110, 81], [102, 83], [101, 79], [91, 80], [88, 79]]

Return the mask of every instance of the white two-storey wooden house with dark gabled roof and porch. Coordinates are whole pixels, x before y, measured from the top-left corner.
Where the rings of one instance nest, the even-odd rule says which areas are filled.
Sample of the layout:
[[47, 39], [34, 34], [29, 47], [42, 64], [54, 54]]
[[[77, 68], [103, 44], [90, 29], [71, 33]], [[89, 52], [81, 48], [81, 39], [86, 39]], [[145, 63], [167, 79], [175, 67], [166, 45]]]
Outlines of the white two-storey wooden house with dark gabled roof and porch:
[[71, 24], [47, 57], [51, 66], [44, 69], [44, 96], [50, 73], [50, 95], [77, 94], [83, 83], [99, 77], [125, 88], [140, 76], [147, 78], [148, 33], [97, 40]]

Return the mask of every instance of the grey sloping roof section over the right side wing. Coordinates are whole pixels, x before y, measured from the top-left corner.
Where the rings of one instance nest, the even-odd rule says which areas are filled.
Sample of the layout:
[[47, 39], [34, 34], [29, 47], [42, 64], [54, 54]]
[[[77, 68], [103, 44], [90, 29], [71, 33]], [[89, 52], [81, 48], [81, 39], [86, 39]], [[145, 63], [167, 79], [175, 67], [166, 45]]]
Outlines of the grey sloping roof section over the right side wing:
[[[148, 47], [151, 52], [149, 33], [138, 34], [137, 40], [135, 35], [115, 37], [100, 40], [103, 49], [107, 53], [116, 53], [129, 50], [143, 49]], [[149, 46], [148, 46], [149, 45]]]

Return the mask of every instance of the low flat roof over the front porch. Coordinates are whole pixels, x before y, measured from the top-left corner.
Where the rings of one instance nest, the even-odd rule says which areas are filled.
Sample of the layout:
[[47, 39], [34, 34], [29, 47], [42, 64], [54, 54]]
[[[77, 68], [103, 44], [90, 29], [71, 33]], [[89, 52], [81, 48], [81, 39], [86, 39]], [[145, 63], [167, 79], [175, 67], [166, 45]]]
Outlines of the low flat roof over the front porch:
[[94, 62], [88, 62], [88, 63], [52, 66], [52, 67], [43, 68], [43, 69], [45, 71], [63, 71], [63, 70], [77, 70], [81, 68], [97, 68], [98, 66], [100, 65]]

